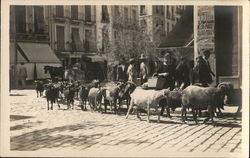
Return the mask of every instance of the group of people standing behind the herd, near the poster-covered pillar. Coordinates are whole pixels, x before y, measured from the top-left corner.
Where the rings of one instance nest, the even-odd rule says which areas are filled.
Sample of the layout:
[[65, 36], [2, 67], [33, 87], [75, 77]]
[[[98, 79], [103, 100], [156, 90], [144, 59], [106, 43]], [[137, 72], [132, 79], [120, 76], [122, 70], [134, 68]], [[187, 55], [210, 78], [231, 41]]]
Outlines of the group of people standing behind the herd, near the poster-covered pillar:
[[[167, 52], [164, 55], [163, 63], [157, 69], [154, 69], [154, 77], [165, 78], [164, 88], [170, 88], [173, 90], [175, 87], [184, 89], [191, 84], [200, 84], [203, 87], [209, 86], [212, 83], [212, 76], [215, 74], [212, 72], [209, 59], [210, 51], [205, 50], [202, 55], [194, 60], [187, 61], [184, 57], [176, 63], [172, 52]], [[135, 59], [129, 60], [129, 66], [126, 67], [124, 58], [117, 67], [116, 80], [118, 81], [132, 81], [138, 85], [138, 78], [140, 78], [140, 84], [147, 82], [149, 77], [149, 68], [146, 64], [147, 58], [142, 54], [139, 58], [140, 66], [139, 69], [135, 66]], [[152, 69], [152, 68], [151, 68]]]

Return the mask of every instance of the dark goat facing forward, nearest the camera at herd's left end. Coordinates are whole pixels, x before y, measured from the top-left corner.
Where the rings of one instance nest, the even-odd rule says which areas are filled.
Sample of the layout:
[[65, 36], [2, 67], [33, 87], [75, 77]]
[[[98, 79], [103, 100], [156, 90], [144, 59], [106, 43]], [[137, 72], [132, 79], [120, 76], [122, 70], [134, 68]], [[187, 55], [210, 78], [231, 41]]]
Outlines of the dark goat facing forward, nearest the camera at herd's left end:
[[46, 99], [47, 99], [47, 105], [48, 105], [48, 110], [49, 110], [49, 103], [51, 104], [51, 110], [53, 110], [53, 103], [58, 104], [58, 107], [60, 108], [59, 102], [58, 102], [58, 97], [59, 97], [59, 88], [55, 87], [54, 84], [49, 83], [45, 85], [46, 91]]

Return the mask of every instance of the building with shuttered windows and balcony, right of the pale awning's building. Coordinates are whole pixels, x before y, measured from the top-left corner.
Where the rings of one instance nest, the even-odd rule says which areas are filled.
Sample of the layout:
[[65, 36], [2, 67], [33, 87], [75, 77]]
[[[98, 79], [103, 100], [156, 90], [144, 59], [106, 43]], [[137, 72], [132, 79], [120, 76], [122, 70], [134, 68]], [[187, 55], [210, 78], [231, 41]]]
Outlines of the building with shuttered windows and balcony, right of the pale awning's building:
[[50, 45], [63, 65], [96, 52], [96, 6], [50, 6]]

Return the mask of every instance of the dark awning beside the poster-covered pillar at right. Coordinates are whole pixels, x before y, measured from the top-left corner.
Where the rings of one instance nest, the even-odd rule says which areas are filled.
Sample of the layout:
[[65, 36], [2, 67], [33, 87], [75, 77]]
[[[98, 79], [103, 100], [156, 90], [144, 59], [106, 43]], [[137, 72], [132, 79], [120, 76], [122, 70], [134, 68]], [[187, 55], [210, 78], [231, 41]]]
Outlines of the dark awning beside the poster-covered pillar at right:
[[159, 45], [159, 48], [185, 47], [191, 44], [194, 32], [193, 19], [193, 7], [187, 6], [179, 22]]

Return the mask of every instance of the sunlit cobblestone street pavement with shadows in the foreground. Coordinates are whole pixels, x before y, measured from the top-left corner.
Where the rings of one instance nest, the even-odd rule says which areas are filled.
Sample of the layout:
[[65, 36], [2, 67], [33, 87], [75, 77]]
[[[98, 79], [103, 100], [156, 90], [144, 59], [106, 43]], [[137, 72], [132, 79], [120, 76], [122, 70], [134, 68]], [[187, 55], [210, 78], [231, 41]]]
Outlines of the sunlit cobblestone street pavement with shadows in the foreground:
[[[211, 123], [195, 125], [191, 119], [183, 124], [180, 109], [172, 119], [151, 116], [147, 123], [146, 114], [142, 121], [135, 115], [125, 119], [125, 111], [112, 113], [82, 111], [79, 106], [66, 110], [47, 110], [45, 98], [37, 98], [34, 90], [13, 90], [10, 94], [11, 150], [66, 150], [79, 151], [124, 151], [124, 152], [202, 152], [241, 153], [241, 118], [234, 119], [237, 107], [226, 106], [224, 118], [215, 118]], [[77, 102], [78, 103], [78, 102]]]

